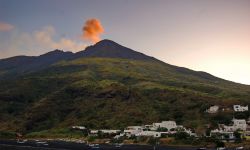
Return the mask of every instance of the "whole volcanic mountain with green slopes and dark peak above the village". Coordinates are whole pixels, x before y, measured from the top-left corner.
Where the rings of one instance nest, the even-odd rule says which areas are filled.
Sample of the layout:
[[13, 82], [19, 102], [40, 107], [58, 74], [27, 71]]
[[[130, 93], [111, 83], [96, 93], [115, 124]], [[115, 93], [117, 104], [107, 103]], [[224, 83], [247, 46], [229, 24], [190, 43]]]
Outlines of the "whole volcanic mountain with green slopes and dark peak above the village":
[[249, 98], [250, 86], [173, 66], [111, 40], [77, 53], [0, 60], [0, 131], [47, 134], [72, 125], [118, 129], [161, 120], [205, 130], [204, 124], [234, 115], [208, 115], [209, 106], [250, 105]]

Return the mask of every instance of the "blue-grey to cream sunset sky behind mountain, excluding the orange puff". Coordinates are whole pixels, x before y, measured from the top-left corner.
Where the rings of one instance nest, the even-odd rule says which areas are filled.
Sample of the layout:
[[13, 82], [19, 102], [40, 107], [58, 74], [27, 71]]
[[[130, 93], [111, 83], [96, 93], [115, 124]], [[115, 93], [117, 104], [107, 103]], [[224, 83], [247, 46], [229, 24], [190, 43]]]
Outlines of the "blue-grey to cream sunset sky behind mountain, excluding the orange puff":
[[250, 85], [250, 0], [0, 0], [0, 59], [83, 50], [92, 18], [100, 39]]

